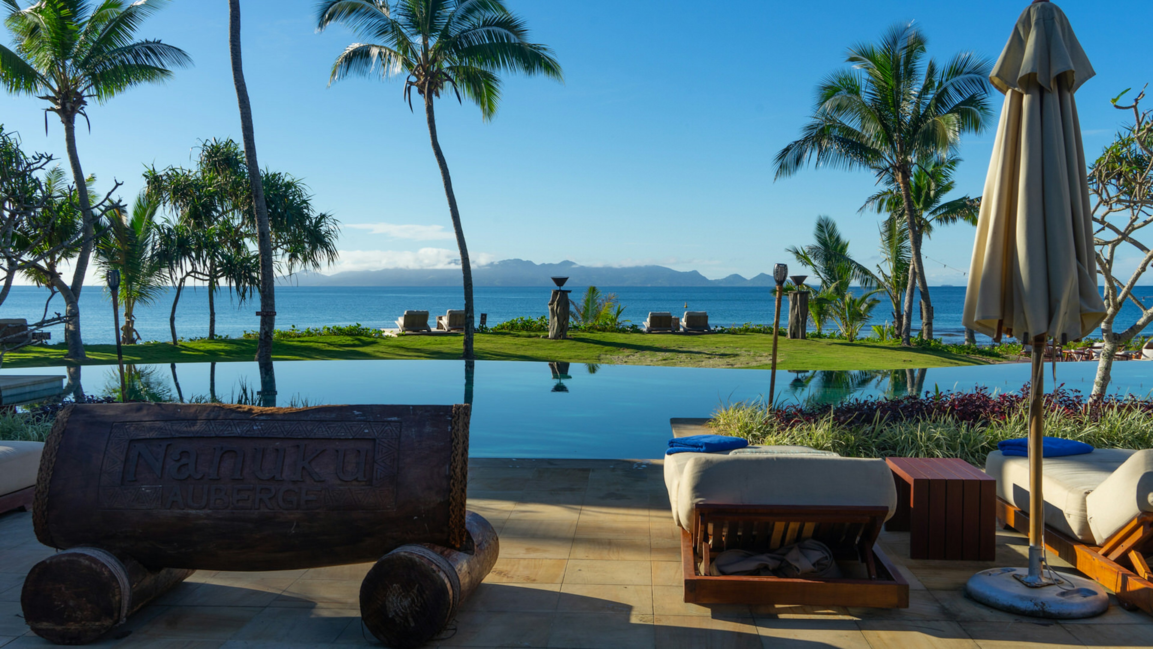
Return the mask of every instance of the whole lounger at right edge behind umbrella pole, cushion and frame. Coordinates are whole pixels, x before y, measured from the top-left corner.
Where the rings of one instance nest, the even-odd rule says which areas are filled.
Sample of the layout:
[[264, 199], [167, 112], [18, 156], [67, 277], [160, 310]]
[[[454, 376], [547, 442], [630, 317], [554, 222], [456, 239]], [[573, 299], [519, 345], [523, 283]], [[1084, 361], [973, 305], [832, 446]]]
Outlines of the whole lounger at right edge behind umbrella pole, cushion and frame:
[[[997, 519], [1028, 534], [1028, 458], [995, 450], [985, 472], [997, 480]], [[1049, 552], [1153, 614], [1153, 449], [1046, 457], [1043, 480]]]

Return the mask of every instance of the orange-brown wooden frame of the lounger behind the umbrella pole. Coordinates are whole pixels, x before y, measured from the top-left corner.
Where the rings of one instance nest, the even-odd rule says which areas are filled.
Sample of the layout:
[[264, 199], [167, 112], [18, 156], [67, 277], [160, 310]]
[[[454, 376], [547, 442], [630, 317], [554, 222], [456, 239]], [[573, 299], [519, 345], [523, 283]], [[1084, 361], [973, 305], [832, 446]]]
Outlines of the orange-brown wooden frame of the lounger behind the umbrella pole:
[[[1028, 534], [1028, 514], [1001, 498], [997, 498], [997, 522]], [[1116, 592], [1123, 607], [1153, 614], [1153, 572], [1145, 559], [1153, 552], [1153, 514], [1136, 516], [1100, 546], [1082, 543], [1046, 525], [1045, 546]]]

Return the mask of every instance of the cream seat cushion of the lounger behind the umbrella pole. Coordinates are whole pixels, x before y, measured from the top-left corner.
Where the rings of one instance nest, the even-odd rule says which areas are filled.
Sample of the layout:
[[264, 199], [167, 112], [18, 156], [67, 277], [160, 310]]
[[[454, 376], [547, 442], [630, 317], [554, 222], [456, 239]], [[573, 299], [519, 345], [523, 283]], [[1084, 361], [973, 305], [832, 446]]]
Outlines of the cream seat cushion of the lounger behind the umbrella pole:
[[[1086, 497], [1136, 453], [1125, 448], [1098, 448], [1085, 455], [1046, 457], [1041, 493], [1045, 524], [1082, 543], [1099, 544], [1090, 528]], [[985, 472], [997, 479], [997, 495], [1028, 513], [1028, 458], [994, 450], [985, 460]]]

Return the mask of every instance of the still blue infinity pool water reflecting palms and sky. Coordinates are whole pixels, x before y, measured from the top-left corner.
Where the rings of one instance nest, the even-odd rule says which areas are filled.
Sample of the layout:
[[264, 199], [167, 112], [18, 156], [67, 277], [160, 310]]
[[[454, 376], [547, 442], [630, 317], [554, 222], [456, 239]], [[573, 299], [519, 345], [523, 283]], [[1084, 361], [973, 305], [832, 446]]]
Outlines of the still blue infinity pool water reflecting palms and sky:
[[[258, 403], [256, 363], [128, 366], [129, 396], [184, 402]], [[1094, 363], [1057, 364], [1057, 385], [1087, 394]], [[1048, 370], [1047, 370], [1048, 371]], [[60, 367], [5, 370], [63, 374]], [[68, 370], [77, 385], [81, 372]], [[1153, 363], [1113, 367], [1113, 389], [1147, 396]], [[969, 390], [1018, 390], [1028, 364], [929, 370], [786, 372], [783, 403], [836, 403], [849, 397]], [[83, 368], [90, 393], [119, 388], [115, 366]], [[660, 456], [670, 417], [708, 417], [718, 405], [768, 393], [767, 370], [646, 367], [480, 360], [311, 360], [276, 364], [277, 405], [337, 403], [473, 403], [470, 453], [476, 457]], [[1046, 381], [1047, 386], [1054, 383]]]

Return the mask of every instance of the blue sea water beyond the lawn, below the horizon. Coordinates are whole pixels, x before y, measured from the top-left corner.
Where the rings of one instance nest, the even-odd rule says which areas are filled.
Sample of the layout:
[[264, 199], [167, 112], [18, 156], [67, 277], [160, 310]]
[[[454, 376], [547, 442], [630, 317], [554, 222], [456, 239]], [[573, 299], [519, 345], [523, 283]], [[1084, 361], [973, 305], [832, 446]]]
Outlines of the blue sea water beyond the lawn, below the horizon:
[[[573, 296], [580, 296], [583, 286], [570, 286]], [[711, 324], [741, 324], [754, 322], [771, 324], [773, 292], [764, 288], [713, 288], [713, 286], [602, 286], [602, 291], [616, 293], [625, 305], [624, 318], [640, 323], [650, 311], [707, 311]], [[1138, 293], [1153, 294], [1153, 286], [1140, 288]], [[172, 308], [172, 291], [164, 293], [150, 306], [137, 307], [136, 324], [145, 341], [167, 341], [168, 313]], [[47, 291], [36, 286], [14, 286], [8, 299], [0, 305], [0, 318], [38, 319], [44, 312]], [[1139, 296], [1151, 297], [1151, 296]], [[475, 290], [477, 319], [488, 313], [490, 326], [517, 316], [535, 318], [548, 313], [549, 290], [542, 288], [477, 288]], [[933, 303], [936, 312], [936, 334], [945, 340], [959, 341], [964, 335], [960, 311], [965, 299], [964, 286], [936, 286]], [[238, 304], [227, 292], [217, 294], [217, 334], [239, 337], [246, 330], [255, 330], [258, 319], [255, 312], [258, 301]], [[81, 333], [86, 342], [113, 342], [112, 303], [99, 286], [88, 286], [81, 296]], [[686, 306], [687, 305], [687, 306]], [[324, 324], [353, 324], [368, 327], [395, 327], [394, 322], [405, 309], [427, 309], [431, 314], [450, 308], [464, 308], [461, 290], [447, 286], [432, 288], [384, 288], [384, 286], [278, 286], [277, 327], [286, 329], [322, 327]], [[63, 312], [63, 301], [56, 297], [48, 313]], [[783, 308], [783, 311], [785, 311]], [[891, 321], [888, 300], [873, 312], [872, 324]], [[1138, 311], [1131, 304], [1122, 309], [1118, 324], [1136, 322]], [[782, 318], [787, 318], [784, 313]], [[914, 313], [915, 319], [915, 313]], [[191, 338], [208, 335], [208, 291], [190, 288], [183, 291], [176, 309], [176, 335]], [[914, 320], [915, 322], [915, 320]], [[830, 323], [830, 327], [834, 327]], [[868, 329], [865, 330], [868, 333]], [[62, 340], [62, 328], [53, 334], [53, 341]], [[979, 342], [988, 338], [979, 336]]]

